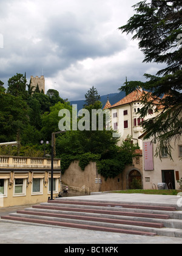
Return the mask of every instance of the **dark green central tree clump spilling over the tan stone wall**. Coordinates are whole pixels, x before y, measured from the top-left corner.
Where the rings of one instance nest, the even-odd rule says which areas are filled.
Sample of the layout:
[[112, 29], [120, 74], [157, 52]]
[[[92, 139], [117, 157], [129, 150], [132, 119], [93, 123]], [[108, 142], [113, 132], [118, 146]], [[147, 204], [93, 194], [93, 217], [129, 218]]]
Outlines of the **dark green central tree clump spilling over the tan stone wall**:
[[[132, 164], [133, 149], [137, 146], [133, 146], [129, 138], [118, 147], [118, 139], [113, 138], [112, 130], [106, 130], [104, 127], [103, 130], [92, 130], [91, 113], [92, 110], [102, 110], [101, 102], [96, 101], [87, 106], [86, 110], [90, 113], [90, 130], [67, 131], [56, 140], [56, 152], [62, 159], [62, 173], [72, 161], [78, 160], [83, 171], [89, 162], [96, 162], [98, 172], [105, 179], [116, 177], [126, 165]], [[79, 121], [78, 118], [78, 123]]]

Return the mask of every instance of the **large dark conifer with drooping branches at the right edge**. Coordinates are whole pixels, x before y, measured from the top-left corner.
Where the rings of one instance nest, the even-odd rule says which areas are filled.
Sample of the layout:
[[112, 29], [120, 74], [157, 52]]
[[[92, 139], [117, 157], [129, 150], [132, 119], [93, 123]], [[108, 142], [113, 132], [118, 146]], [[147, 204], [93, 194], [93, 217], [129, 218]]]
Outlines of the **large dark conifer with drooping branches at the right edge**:
[[171, 155], [170, 141], [176, 140], [182, 133], [182, 48], [179, 47], [179, 35], [182, 32], [181, 0], [141, 1], [134, 8], [136, 14], [119, 29], [127, 34], [135, 33], [132, 39], [139, 40], [139, 48], [144, 53], [143, 62], [165, 65], [155, 75], [144, 74], [149, 80], [143, 87], [149, 93], [144, 94], [141, 117], [146, 116], [158, 97], [164, 96], [156, 108], [157, 117], [143, 122], [146, 132], [144, 139], [153, 137], [155, 143], [160, 141], [157, 154], [167, 148]]

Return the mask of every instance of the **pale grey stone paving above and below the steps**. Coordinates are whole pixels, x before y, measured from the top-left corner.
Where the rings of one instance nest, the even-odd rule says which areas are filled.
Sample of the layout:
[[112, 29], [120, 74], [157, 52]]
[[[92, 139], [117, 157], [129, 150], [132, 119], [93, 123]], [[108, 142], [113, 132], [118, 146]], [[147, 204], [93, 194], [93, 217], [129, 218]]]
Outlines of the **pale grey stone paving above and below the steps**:
[[[71, 197], [69, 197], [71, 198]], [[143, 204], [177, 205], [177, 196], [159, 196], [144, 194], [94, 194], [74, 197], [74, 199], [110, 202], [142, 202]], [[27, 206], [26, 206], [27, 207]], [[19, 208], [1, 208], [0, 216], [16, 212]], [[178, 209], [180, 210], [180, 209]], [[108, 233], [93, 230], [22, 224], [0, 220], [0, 244], [182, 244], [182, 238], [167, 236], [139, 236], [124, 233]]]

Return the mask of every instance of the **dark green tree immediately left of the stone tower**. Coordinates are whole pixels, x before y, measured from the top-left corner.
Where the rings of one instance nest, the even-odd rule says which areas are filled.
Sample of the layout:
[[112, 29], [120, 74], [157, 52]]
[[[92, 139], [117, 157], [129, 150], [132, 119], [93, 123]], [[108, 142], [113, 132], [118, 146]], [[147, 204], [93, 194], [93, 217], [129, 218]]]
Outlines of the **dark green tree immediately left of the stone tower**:
[[8, 89], [7, 93], [12, 94], [13, 96], [21, 96], [23, 99], [27, 98], [27, 79], [22, 74], [16, 73], [16, 76], [13, 76], [8, 80]]

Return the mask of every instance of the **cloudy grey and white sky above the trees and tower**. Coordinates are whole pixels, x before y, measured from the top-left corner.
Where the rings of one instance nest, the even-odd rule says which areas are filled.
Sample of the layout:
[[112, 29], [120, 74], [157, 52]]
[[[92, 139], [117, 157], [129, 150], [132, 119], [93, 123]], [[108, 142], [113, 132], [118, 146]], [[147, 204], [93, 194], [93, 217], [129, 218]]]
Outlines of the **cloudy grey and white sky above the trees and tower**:
[[[0, 80], [16, 73], [45, 76], [45, 90], [69, 101], [118, 92], [128, 80], [144, 80], [158, 66], [144, 56], [132, 35], [118, 27], [138, 0], [0, 0]], [[3, 38], [3, 44], [2, 44]], [[3, 45], [3, 47], [2, 47]]]

